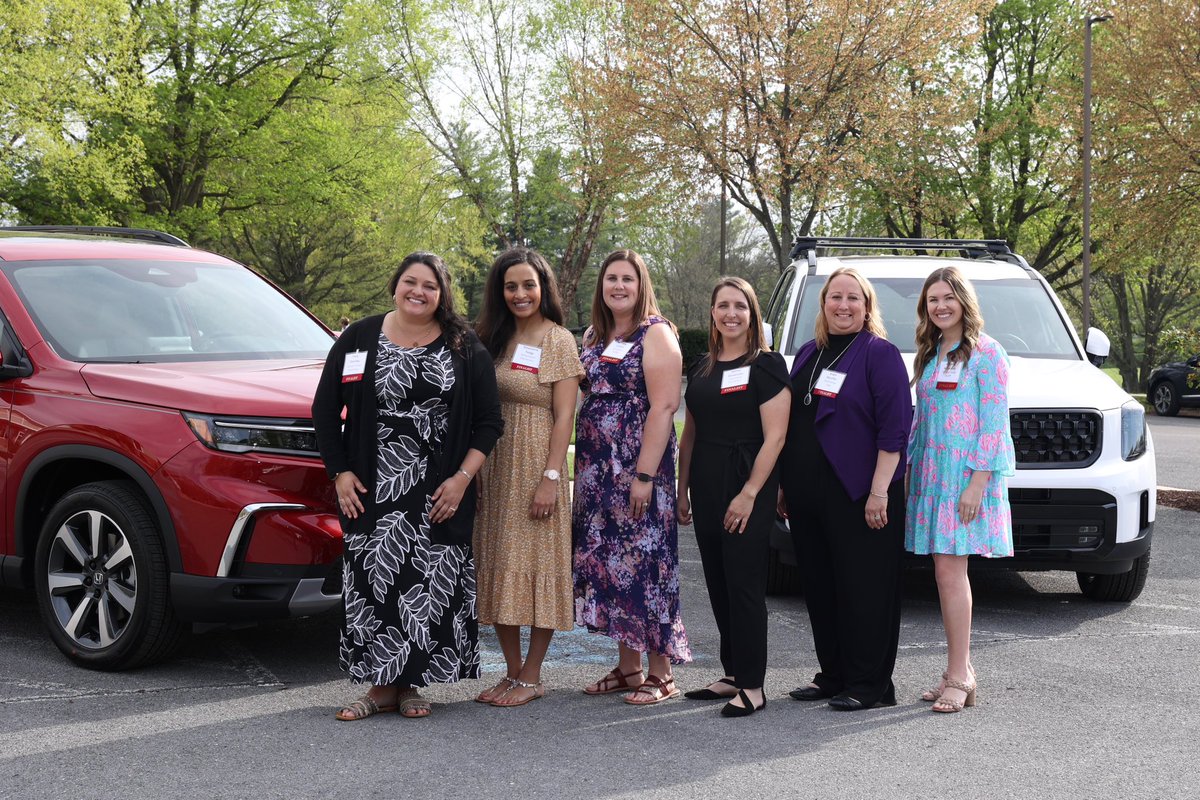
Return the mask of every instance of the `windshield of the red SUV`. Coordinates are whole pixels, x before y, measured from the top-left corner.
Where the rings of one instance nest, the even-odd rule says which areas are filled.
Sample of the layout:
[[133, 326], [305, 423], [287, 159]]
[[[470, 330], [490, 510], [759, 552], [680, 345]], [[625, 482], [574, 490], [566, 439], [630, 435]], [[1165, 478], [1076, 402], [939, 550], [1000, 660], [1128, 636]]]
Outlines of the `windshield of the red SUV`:
[[324, 359], [330, 333], [236, 264], [8, 261], [42, 336], [73, 361]]

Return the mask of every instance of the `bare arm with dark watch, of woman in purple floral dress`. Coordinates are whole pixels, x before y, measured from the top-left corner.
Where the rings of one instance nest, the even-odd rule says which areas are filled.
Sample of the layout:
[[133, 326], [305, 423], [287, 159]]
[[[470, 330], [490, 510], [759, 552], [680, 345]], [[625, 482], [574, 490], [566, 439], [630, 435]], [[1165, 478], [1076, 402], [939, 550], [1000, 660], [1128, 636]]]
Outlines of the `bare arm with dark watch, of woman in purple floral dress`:
[[[650, 410], [642, 428], [642, 449], [634, 469], [654, 475], [671, 440], [674, 413], [679, 408], [679, 386], [683, 378], [683, 355], [668, 325], [650, 325], [642, 341], [642, 372]], [[670, 487], [673, 488], [673, 487]], [[630, 515], [641, 517], [649, 505], [653, 482], [634, 480], [630, 489]]]

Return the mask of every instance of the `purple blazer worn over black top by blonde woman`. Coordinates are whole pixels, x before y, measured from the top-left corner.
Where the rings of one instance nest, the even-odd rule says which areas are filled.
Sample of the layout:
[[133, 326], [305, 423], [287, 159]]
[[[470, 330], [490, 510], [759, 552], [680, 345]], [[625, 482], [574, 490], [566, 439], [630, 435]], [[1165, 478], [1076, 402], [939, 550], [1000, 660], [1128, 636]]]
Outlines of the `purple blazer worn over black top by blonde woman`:
[[[808, 393], [808, 373], [797, 373], [802, 372], [800, 366], [814, 356], [816, 349], [816, 341], [810, 341], [792, 361], [793, 402], [802, 402]], [[908, 371], [896, 345], [864, 330], [841, 356], [838, 372], [846, 373], [838, 397], [812, 396], [817, 403], [814, 426], [821, 450], [846, 488], [846, 494], [858, 501], [871, 491], [880, 450], [900, 453], [892, 481], [904, 477], [905, 452], [912, 428]]]

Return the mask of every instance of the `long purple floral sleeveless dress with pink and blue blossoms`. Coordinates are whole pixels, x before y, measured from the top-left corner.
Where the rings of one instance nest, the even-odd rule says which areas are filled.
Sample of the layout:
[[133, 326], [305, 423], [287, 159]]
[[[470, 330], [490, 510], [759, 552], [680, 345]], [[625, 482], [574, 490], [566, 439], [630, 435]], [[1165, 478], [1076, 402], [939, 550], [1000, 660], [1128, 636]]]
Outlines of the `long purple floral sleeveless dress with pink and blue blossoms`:
[[654, 474], [649, 509], [629, 515], [642, 431], [650, 408], [642, 344], [650, 317], [618, 362], [605, 342], [583, 349], [584, 397], [575, 433], [575, 621], [638, 651], [691, 661], [679, 614], [674, 428]]

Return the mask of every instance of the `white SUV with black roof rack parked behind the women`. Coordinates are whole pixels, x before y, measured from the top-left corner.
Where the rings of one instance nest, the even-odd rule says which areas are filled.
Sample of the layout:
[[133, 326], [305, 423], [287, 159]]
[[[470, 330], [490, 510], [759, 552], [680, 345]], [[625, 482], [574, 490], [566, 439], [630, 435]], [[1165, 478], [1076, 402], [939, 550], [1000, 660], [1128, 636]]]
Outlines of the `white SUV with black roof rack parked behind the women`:
[[[979, 295], [984, 330], [1012, 359], [1016, 445], [1016, 475], [1008, 482], [1014, 557], [972, 560], [1070, 570], [1093, 600], [1128, 602], [1141, 593], [1154, 529], [1154, 445], [1141, 404], [1097, 368], [1109, 354], [1103, 332], [1091, 329], [1085, 348], [1045, 278], [1003, 241], [802, 237], [791, 258], [764, 311], [788, 361], [812, 338], [829, 273], [853, 266], [875, 287], [888, 339], [910, 373], [922, 284], [938, 266], [962, 270]], [[796, 557], [782, 527], [772, 543], [770, 588], [779, 591], [794, 582]]]

